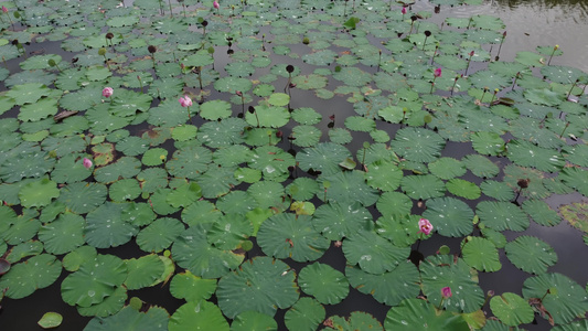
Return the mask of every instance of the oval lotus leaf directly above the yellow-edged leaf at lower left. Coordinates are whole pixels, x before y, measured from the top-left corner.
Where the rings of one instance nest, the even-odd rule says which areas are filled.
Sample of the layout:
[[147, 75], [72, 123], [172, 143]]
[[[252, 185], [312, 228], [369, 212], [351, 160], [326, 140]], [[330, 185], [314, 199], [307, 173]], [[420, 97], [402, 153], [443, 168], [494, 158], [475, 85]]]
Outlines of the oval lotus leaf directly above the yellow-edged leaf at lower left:
[[175, 218], [158, 218], [139, 232], [137, 245], [143, 252], [159, 253], [170, 247], [184, 229], [184, 225]]

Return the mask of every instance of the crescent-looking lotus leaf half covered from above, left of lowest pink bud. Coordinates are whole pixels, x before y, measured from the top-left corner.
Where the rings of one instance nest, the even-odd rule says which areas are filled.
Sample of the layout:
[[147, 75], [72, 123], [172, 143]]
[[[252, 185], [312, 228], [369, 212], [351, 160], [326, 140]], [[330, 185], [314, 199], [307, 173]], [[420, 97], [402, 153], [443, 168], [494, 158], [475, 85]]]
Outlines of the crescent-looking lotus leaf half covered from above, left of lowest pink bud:
[[381, 275], [367, 274], [357, 267], [348, 266], [345, 275], [351, 286], [360, 292], [372, 295], [378, 302], [388, 306], [396, 306], [404, 299], [414, 298], [420, 291], [418, 269], [409, 261], [402, 263], [396, 269]]

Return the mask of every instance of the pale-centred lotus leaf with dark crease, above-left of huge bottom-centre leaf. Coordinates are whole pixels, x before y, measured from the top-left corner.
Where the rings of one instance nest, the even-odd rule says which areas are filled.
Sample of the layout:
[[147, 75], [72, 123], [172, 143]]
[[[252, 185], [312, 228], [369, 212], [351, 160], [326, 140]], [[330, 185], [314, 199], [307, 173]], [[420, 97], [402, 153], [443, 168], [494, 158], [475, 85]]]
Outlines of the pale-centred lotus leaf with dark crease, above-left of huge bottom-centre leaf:
[[209, 243], [218, 249], [237, 249], [254, 231], [244, 214], [227, 214], [218, 218], [207, 233]]

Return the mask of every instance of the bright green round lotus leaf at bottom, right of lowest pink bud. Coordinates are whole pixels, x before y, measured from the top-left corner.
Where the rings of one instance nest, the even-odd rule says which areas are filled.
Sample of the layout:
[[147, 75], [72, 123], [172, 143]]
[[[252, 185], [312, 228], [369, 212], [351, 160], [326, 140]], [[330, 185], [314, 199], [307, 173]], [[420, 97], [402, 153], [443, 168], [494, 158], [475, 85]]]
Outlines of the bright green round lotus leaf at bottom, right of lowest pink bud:
[[511, 292], [492, 297], [490, 309], [506, 325], [516, 327], [531, 323], [534, 318], [533, 309], [528, 306], [528, 302]]

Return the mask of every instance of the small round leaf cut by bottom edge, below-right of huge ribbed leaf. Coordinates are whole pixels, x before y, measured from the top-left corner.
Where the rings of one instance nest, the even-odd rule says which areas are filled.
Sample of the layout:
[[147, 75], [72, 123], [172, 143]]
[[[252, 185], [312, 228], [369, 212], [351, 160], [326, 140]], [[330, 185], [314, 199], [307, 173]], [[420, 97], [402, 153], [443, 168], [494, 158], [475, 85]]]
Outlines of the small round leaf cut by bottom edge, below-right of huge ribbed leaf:
[[300, 298], [285, 317], [288, 330], [317, 330], [317, 327], [324, 320], [324, 307], [319, 301], [306, 297]]

